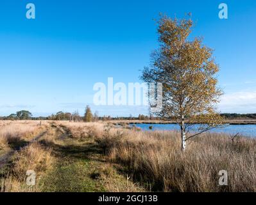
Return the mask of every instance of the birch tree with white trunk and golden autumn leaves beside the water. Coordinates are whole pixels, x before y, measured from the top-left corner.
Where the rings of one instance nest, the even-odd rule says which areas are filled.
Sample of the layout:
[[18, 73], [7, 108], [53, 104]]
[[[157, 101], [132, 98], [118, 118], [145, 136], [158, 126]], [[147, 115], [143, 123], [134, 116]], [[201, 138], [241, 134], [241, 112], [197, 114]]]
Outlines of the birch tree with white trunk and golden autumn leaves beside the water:
[[162, 83], [163, 107], [154, 114], [180, 125], [183, 151], [187, 140], [223, 122], [216, 111], [222, 94], [217, 88], [219, 67], [212, 58], [212, 49], [203, 45], [202, 38], [189, 40], [192, 26], [191, 19], [161, 17], [160, 47], [141, 76], [148, 83]]

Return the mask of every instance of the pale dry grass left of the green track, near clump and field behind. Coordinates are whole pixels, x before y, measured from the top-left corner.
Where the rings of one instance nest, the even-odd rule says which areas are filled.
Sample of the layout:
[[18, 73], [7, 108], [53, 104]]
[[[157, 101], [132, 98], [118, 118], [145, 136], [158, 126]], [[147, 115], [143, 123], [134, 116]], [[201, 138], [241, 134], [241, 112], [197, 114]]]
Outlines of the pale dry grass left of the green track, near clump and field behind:
[[[52, 163], [51, 150], [40, 143], [29, 143], [42, 132], [40, 121], [0, 121], [0, 149], [17, 149], [12, 156], [12, 163], [4, 169], [1, 177], [1, 192], [38, 192], [40, 176]], [[28, 144], [28, 145], [27, 145]], [[23, 148], [22, 148], [23, 147]], [[37, 174], [35, 186], [26, 184], [27, 170]]]

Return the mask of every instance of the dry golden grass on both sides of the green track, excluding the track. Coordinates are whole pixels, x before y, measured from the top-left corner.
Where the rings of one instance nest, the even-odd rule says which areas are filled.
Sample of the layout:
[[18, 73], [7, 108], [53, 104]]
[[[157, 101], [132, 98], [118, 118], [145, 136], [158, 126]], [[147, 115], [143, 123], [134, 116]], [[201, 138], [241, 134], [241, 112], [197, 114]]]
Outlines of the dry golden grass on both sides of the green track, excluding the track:
[[[139, 131], [114, 127], [107, 122], [55, 123], [71, 133], [74, 140], [98, 142], [107, 158], [100, 173], [110, 192], [144, 190], [140, 186], [164, 192], [256, 192], [255, 139], [235, 138], [232, 141], [228, 135], [207, 133], [190, 141], [187, 150], [182, 152], [180, 134], [175, 131]], [[37, 127], [38, 122], [2, 123], [0, 143], [1, 139], [6, 145], [17, 136], [30, 135]], [[47, 142], [45, 145], [54, 142], [56, 133], [52, 132], [48, 131], [42, 138]], [[40, 191], [40, 183], [33, 188], [26, 185], [26, 170], [35, 170], [40, 181], [40, 175], [52, 161], [51, 150], [39, 143], [24, 147], [15, 154], [2, 191]], [[228, 186], [219, 186], [220, 170], [228, 172]]]

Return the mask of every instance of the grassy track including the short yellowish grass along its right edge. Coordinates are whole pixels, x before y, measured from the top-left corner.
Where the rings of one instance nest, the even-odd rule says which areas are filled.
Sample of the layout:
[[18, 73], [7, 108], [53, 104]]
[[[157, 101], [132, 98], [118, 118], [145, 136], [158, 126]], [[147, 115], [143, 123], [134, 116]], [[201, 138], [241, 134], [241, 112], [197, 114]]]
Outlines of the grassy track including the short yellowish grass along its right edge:
[[144, 192], [110, 164], [93, 137], [79, 141], [65, 126], [52, 124], [53, 168], [42, 178], [42, 192]]

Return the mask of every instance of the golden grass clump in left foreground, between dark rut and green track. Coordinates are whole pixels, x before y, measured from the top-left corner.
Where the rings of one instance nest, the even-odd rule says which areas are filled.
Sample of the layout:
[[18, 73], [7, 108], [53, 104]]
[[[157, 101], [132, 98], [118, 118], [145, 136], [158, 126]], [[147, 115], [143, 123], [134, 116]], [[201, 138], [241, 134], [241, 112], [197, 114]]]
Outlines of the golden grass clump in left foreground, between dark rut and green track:
[[[10, 171], [2, 179], [1, 192], [40, 192], [40, 176], [52, 163], [51, 149], [46, 149], [37, 142], [31, 143], [15, 154]], [[35, 171], [35, 186], [26, 184], [27, 170]]]

